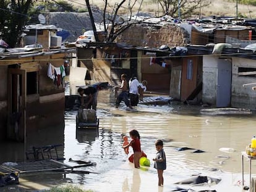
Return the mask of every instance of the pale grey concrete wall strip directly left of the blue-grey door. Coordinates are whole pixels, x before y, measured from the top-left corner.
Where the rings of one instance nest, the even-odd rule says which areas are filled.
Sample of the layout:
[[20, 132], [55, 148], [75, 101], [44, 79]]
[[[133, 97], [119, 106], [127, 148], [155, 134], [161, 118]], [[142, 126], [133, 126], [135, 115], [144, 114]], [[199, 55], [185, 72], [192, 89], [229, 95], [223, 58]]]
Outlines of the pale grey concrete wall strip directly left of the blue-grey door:
[[203, 94], [202, 101], [216, 104], [218, 57], [203, 56]]

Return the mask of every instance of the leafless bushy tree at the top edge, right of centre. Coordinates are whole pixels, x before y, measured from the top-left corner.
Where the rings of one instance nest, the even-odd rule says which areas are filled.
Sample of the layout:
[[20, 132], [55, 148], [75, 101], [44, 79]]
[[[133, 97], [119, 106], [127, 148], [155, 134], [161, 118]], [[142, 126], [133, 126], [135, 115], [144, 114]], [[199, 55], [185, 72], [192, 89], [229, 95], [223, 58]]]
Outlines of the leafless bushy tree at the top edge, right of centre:
[[184, 17], [191, 15], [196, 9], [208, 6], [208, 0], [158, 0], [164, 15], [171, 17]]

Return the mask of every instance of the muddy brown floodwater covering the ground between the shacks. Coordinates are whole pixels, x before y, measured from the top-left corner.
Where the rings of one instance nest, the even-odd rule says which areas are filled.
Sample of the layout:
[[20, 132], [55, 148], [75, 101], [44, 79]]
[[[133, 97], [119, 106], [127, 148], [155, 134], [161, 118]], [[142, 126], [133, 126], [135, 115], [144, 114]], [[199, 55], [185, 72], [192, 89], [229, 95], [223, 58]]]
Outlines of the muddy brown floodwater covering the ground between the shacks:
[[[93, 191], [171, 191], [176, 187], [192, 190], [242, 191], [242, 156], [241, 152], [256, 135], [255, 115], [200, 115], [198, 106], [185, 106], [171, 102], [166, 106], [145, 106], [139, 104], [136, 111], [127, 111], [124, 103], [119, 109], [114, 107], [112, 90], [101, 90], [98, 94], [97, 115], [100, 118], [100, 128], [96, 130], [76, 130], [75, 111], [65, 112], [65, 126], [59, 133], [51, 128], [41, 131], [38, 142], [54, 140], [54, 134], [64, 135], [56, 141], [64, 142], [64, 163], [74, 160], [96, 162], [94, 167], [86, 167], [92, 173], [67, 174], [66, 178], [49, 175], [45, 177], [27, 177], [38, 184], [39, 189], [49, 188], [51, 185], [73, 183], [81, 188]], [[128, 161], [122, 149], [124, 133], [137, 129], [141, 137], [142, 150], [150, 159], [150, 167], [135, 169]], [[53, 133], [52, 139], [43, 138], [47, 133]], [[49, 135], [49, 134], [48, 134]], [[41, 139], [40, 139], [41, 138]], [[158, 186], [158, 176], [153, 168], [153, 157], [156, 150], [154, 142], [164, 141], [167, 169], [164, 170], [164, 186]], [[36, 141], [34, 141], [36, 142]], [[49, 144], [49, 143], [48, 143]], [[56, 144], [56, 143], [54, 143]], [[9, 146], [9, 144], [6, 144]], [[193, 148], [177, 151], [176, 148]], [[9, 147], [11, 149], [11, 146]], [[8, 149], [9, 149], [8, 148]], [[15, 148], [17, 145], [15, 145]], [[22, 146], [20, 146], [22, 148]], [[234, 151], [220, 151], [220, 148], [233, 148]], [[205, 152], [194, 153], [195, 149]], [[14, 161], [17, 154], [0, 148], [1, 162], [9, 157]], [[256, 164], [252, 161], [252, 173], [256, 171]], [[245, 185], [249, 185], [249, 163], [245, 161]], [[215, 169], [212, 169], [215, 168]], [[202, 175], [220, 178], [218, 184], [204, 185], [175, 185], [174, 183], [190, 178], [192, 175]], [[15, 187], [9, 190], [15, 191]], [[31, 188], [27, 188], [27, 190]], [[1, 188], [0, 188], [1, 191]], [[33, 190], [32, 190], [33, 191]], [[34, 190], [35, 191], [35, 190]]]

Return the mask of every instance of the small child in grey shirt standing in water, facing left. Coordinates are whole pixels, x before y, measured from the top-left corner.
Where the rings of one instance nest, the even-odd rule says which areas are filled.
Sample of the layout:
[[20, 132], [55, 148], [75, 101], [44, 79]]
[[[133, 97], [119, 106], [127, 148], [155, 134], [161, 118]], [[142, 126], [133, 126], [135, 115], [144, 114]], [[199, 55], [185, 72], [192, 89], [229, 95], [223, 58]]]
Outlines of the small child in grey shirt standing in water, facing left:
[[158, 186], [163, 185], [163, 170], [166, 169], [166, 157], [163, 150], [163, 141], [157, 140], [155, 142], [156, 146], [156, 157], [153, 159], [155, 161], [154, 168], [157, 169], [158, 173]]

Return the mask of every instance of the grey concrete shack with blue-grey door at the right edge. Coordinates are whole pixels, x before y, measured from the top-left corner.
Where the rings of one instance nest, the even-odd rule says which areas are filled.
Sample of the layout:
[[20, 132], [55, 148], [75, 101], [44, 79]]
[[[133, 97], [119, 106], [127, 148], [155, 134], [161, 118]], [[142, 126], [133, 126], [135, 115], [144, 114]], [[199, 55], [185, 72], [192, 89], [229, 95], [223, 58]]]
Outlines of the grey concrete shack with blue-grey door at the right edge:
[[[216, 107], [247, 108], [255, 111], [255, 53], [244, 48], [190, 46], [189, 52], [202, 57], [202, 102]], [[201, 55], [200, 55], [201, 54]]]

